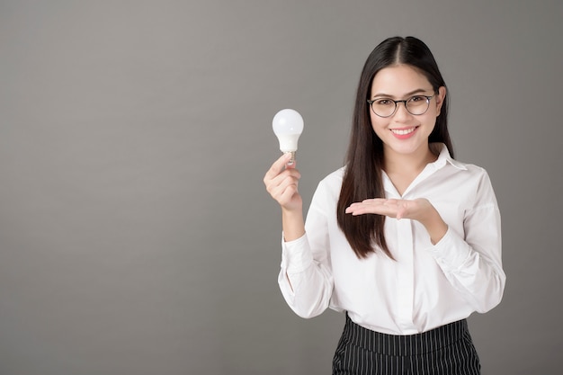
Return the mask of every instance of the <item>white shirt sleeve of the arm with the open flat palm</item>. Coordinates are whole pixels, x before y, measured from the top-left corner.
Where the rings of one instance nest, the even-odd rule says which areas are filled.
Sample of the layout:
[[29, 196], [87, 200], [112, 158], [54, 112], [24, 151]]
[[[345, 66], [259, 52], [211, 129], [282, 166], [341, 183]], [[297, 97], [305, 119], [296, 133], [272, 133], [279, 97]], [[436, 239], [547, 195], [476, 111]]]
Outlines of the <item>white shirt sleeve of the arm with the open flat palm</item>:
[[484, 172], [475, 204], [465, 213], [464, 233], [451, 227], [428, 250], [448, 281], [479, 313], [496, 307], [505, 290], [501, 260], [501, 221], [495, 193]]

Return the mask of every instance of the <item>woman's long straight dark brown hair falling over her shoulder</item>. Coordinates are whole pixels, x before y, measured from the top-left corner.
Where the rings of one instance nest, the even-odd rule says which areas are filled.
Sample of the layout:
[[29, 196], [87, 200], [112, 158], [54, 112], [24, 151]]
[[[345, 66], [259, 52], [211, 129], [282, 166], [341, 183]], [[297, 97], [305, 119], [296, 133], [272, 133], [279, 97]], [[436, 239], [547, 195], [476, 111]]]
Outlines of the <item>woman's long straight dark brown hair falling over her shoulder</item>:
[[[446, 86], [433, 54], [422, 40], [414, 37], [394, 37], [383, 40], [366, 60], [356, 94], [353, 110], [350, 144], [346, 154], [346, 169], [336, 219], [338, 226], [358, 258], [366, 258], [379, 247], [390, 258], [383, 228], [385, 217], [381, 215], [346, 214], [344, 210], [356, 201], [369, 198], [383, 198], [385, 191], [382, 181], [383, 143], [371, 127], [370, 106], [367, 103], [373, 77], [384, 67], [406, 64], [416, 67], [433, 86], [435, 93]], [[453, 157], [453, 147], [448, 132], [448, 95], [445, 96], [440, 115], [429, 142], [442, 142]]]

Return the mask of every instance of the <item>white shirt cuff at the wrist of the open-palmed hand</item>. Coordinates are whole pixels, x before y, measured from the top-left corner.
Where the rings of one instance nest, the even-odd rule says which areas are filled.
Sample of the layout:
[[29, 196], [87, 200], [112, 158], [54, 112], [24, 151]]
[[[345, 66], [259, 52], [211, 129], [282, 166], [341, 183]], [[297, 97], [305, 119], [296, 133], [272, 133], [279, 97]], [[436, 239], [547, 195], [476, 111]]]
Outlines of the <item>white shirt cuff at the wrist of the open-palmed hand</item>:
[[449, 227], [442, 239], [436, 245], [428, 247], [428, 251], [442, 268], [453, 271], [466, 262], [471, 249], [469, 244]]

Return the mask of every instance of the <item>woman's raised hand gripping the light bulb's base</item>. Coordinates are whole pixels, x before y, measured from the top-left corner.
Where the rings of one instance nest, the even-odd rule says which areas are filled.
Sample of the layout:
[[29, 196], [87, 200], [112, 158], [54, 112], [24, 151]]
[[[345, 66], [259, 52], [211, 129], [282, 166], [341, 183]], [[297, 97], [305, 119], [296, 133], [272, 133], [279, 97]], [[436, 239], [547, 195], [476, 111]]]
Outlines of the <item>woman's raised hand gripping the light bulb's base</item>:
[[291, 154], [283, 154], [264, 175], [266, 191], [277, 201], [281, 210], [302, 211], [303, 201], [297, 189], [301, 174], [295, 168], [295, 162], [288, 165]]

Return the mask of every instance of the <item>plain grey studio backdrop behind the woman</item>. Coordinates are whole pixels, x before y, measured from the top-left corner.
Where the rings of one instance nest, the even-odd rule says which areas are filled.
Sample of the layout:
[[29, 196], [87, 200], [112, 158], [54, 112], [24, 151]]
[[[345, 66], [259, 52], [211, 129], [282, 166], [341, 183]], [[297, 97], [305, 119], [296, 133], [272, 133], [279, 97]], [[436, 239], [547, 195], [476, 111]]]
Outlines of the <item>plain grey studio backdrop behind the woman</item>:
[[0, 2], [0, 373], [326, 374], [344, 317], [278, 290], [262, 177], [305, 119], [300, 191], [343, 164], [362, 64], [416, 35], [461, 161], [491, 175], [505, 299], [484, 374], [560, 373], [561, 36], [553, 1]]

